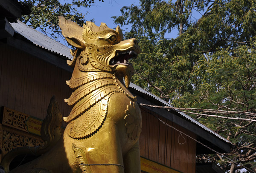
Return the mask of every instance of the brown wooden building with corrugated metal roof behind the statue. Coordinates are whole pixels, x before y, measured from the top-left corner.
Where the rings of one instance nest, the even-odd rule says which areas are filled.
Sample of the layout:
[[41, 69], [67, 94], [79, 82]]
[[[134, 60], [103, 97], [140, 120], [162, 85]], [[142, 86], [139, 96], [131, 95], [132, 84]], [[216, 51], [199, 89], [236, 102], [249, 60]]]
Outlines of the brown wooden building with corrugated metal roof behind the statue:
[[[20, 21], [15, 23], [22, 12], [14, 14], [17, 4], [17, 0], [0, 0], [0, 159], [15, 147], [42, 144], [41, 122], [53, 95], [64, 116], [71, 110], [64, 102], [72, 92], [65, 82], [73, 71], [66, 63], [73, 58], [69, 48]], [[130, 90], [138, 103], [171, 106], [137, 85], [131, 84]], [[204, 169], [219, 173], [214, 164], [197, 166], [196, 155], [228, 153], [231, 142], [179, 111], [140, 108], [142, 172], [201, 173]], [[18, 157], [11, 166], [32, 158]]]

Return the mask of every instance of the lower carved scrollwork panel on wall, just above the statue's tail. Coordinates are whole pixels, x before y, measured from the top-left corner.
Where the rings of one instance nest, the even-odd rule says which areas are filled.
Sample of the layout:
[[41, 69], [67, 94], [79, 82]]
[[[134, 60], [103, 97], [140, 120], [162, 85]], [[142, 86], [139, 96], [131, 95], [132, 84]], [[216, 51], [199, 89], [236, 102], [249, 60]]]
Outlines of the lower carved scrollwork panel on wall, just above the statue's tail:
[[35, 147], [44, 145], [43, 140], [39, 136], [35, 136], [29, 133], [21, 132], [20, 130], [15, 130], [3, 126], [3, 147], [2, 147], [2, 158], [9, 151], [16, 147]]

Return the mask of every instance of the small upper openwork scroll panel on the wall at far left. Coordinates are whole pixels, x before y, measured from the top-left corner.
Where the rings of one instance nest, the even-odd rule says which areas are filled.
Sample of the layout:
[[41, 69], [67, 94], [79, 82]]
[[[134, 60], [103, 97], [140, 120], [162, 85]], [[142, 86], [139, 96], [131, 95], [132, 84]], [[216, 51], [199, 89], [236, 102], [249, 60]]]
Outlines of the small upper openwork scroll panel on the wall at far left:
[[3, 125], [12, 126], [19, 130], [28, 131], [26, 121], [29, 119], [29, 115], [20, 113], [10, 108], [4, 108], [3, 110]]

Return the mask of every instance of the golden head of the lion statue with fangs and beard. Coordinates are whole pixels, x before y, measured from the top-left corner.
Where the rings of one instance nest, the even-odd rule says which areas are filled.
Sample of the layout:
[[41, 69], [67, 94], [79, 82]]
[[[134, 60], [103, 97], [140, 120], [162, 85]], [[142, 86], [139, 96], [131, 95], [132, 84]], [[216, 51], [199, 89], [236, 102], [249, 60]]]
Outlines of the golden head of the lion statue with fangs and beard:
[[74, 56], [68, 64], [79, 68], [80, 71], [106, 71], [115, 74], [120, 80], [125, 79], [129, 86], [134, 68], [128, 61], [137, 58], [140, 47], [137, 40], [123, 40], [119, 26], [116, 30], [108, 28], [105, 23], [96, 26], [86, 22], [83, 27], [59, 17], [59, 25], [67, 42], [76, 48]]

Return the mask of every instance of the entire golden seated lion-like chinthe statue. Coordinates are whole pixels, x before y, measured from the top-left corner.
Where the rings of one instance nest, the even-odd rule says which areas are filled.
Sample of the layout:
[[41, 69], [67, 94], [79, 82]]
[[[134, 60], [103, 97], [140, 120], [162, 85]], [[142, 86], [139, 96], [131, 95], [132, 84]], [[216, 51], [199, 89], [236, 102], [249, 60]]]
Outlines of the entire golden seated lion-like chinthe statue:
[[[142, 118], [128, 90], [134, 71], [128, 60], [140, 53], [137, 40], [123, 40], [119, 26], [113, 30], [105, 23], [80, 27], [59, 17], [59, 26], [76, 48], [67, 62], [74, 67], [67, 81], [74, 91], [65, 99], [73, 109], [64, 117], [63, 136], [54, 145], [46, 142], [51, 149], [10, 173], [140, 173]], [[40, 153], [41, 148], [27, 150]]]

